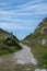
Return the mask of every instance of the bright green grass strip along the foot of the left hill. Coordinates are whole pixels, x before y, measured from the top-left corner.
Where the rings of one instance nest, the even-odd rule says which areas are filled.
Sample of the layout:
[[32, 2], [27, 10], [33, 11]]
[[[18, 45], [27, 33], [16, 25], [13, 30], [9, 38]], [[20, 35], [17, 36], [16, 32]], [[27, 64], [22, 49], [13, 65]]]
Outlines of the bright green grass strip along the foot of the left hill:
[[13, 46], [13, 47], [7, 47], [8, 49], [1, 49], [0, 50], [0, 56], [3, 56], [3, 55], [8, 55], [8, 54], [12, 54], [12, 52], [16, 52], [21, 49], [21, 47], [16, 48], [16, 46]]

